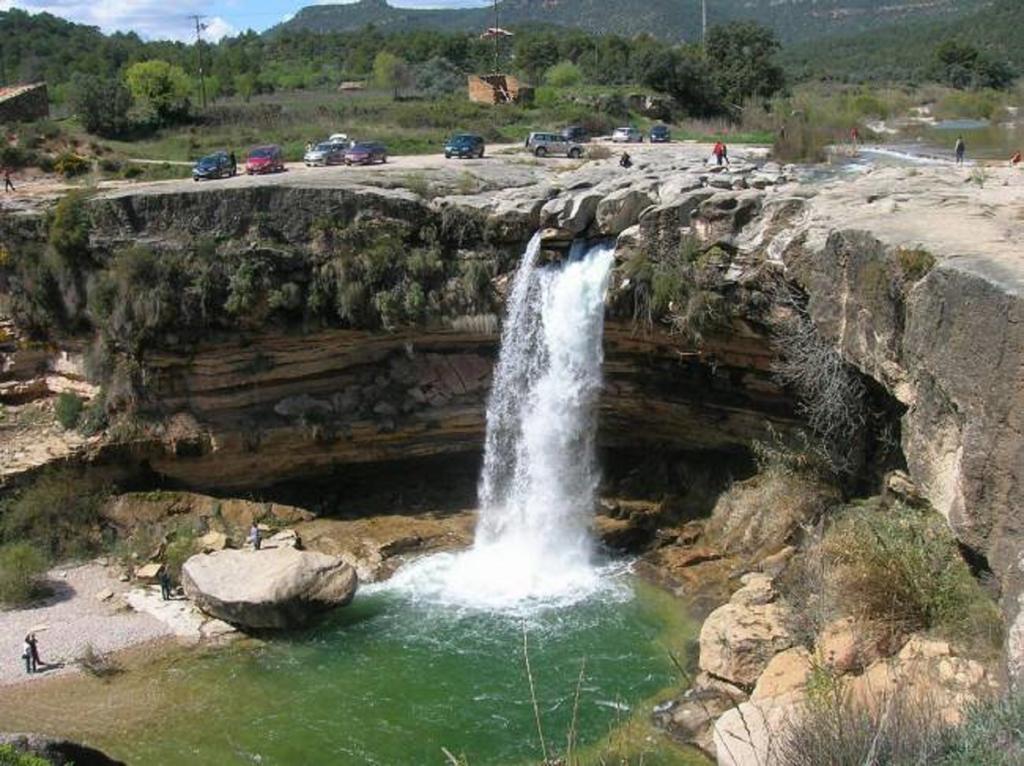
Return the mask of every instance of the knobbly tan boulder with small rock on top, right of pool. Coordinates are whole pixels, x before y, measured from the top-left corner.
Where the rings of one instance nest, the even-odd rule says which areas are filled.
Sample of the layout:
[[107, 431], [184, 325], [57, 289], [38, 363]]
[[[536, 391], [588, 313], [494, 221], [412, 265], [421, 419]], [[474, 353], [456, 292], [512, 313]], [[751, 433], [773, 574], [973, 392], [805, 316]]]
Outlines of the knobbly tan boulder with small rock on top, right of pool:
[[794, 645], [790, 607], [775, 600], [771, 578], [744, 574], [743, 587], [700, 628], [700, 670], [751, 688], [775, 654]]

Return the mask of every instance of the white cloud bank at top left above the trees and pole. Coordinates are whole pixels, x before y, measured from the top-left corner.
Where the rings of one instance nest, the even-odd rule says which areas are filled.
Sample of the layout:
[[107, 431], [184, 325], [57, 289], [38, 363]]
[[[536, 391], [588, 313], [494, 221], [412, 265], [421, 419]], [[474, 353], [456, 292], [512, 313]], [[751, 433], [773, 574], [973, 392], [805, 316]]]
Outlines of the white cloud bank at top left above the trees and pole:
[[[189, 18], [203, 14], [208, 3], [202, 0], [0, 0], [0, 10], [22, 8], [32, 13], [47, 12], [71, 22], [99, 27], [103, 32], [135, 32], [146, 39], [194, 40], [196, 26]], [[220, 16], [204, 18], [204, 36], [215, 41], [236, 33]]]

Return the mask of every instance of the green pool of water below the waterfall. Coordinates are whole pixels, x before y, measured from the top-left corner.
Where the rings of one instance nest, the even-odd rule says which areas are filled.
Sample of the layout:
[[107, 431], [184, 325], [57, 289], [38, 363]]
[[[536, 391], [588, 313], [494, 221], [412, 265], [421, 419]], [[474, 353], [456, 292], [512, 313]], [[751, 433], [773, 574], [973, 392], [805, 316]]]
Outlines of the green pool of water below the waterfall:
[[[579, 730], [594, 758], [611, 749], [630, 763], [641, 751], [648, 765], [699, 762], [646, 724], [652, 698], [679, 685], [669, 651], [694, 635], [678, 601], [626, 580], [525, 624], [554, 750], [564, 749], [586, 659]], [[137, 696], [161, 724], [126, 725], [96, 743], [130, 764], [441, 764], [442, 748], [471, 766], [536, 764], [522, 627], [521, 618], [360, 594], [307, 633], [150, 671]]]

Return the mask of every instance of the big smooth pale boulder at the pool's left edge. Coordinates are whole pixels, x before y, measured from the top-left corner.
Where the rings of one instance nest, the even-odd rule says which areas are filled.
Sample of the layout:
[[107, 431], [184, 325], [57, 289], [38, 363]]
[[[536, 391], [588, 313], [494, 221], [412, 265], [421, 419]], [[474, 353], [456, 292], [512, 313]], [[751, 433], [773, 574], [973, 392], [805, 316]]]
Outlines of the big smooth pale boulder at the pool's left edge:
[[357, 578], [338, 556], [280, 547], [193, 556], [181, 584], [201, 609], [232, 625], [292, 628], [351, 601]]

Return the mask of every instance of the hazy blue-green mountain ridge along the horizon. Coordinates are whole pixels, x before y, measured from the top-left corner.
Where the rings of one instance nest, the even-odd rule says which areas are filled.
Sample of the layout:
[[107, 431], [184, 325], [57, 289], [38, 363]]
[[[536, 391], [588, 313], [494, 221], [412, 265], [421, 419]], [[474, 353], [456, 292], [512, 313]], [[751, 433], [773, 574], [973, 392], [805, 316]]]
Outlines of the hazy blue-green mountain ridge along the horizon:
[[[709, 24], [754, 19], [783, 42], [892, 27], [921, 19], [965, 15], [989, 0], [708, 0]], [[700, 0], [500, 0], [502, 27], [546, 24], [633, 36], [647, 33], [671, 40], [700, 35]], [[282, 31], [355, 32], [373, 25], [381, 32], [436, 29], [482, 31], [494, 25], [490, 6], [421, 10], [396, 8], [385, 0], [310, 5], [268, 34]]]

